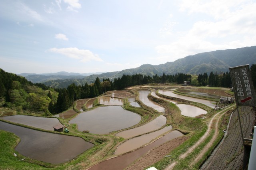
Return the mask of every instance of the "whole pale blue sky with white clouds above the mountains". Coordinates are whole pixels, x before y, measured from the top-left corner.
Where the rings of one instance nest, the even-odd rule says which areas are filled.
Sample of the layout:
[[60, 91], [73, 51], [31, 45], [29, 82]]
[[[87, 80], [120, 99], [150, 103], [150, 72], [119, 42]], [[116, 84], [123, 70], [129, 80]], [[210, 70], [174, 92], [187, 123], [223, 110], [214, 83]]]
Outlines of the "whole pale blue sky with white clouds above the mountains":
[[256, 0], [1, 0], [0, 68], [95, 73], [256, 45]]

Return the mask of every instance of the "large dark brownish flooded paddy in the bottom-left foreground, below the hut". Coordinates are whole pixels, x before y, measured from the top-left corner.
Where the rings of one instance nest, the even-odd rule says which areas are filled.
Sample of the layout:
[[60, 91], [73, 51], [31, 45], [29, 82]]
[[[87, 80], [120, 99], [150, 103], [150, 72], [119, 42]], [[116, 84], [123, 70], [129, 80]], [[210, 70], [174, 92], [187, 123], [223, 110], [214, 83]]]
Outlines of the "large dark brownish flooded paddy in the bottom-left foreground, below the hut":
[[94, 146], [80, 137], [42, 132], [2, 121], [0, 129], [20, 137], [21, 140], [15, 148], [20, 154], [51, 164], [72, 160]]

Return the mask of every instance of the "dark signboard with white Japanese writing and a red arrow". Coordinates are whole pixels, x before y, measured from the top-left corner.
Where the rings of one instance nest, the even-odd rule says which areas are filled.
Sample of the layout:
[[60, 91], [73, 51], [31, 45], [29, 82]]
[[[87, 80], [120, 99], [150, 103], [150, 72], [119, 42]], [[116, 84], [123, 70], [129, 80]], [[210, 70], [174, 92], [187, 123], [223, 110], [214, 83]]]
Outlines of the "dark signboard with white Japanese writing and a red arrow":
[[249, 65], [229, 68], [237, 106], [255, 106], [256, 96]]

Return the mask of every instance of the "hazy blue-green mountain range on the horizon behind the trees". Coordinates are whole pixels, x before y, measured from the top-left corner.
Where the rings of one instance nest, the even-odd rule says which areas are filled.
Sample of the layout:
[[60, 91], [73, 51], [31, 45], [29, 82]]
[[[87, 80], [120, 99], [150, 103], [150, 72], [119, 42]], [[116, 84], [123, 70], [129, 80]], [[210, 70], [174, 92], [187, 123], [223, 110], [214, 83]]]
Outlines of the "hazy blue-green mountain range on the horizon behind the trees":
[[106, 72], [106, 73], [44, 73], [41, 75], [22, 73], [20, 75], [26, 77], [33, 83], [43, 83], [50, 87], [63, 88], [71, 83], [82, 85], [84, 83], [93, 83], [98, 77], [103, 78], [118, 78], [122, 75], [162, 75], [163, 73], [173, 75], [176, 73], [203, 74], [214, 72], [221, 73], [229, 71], [228, 68], [238, 65], [255, 64], [256, 63], [256, 46], [243, 47], [238, 49], [217, 50], [196, 55], [188, 55], [182, 59], [177, 59], [173, 62], [167, 62], [160, 65], [144, 64], [134, 69], [124, 69], [122, 71]]

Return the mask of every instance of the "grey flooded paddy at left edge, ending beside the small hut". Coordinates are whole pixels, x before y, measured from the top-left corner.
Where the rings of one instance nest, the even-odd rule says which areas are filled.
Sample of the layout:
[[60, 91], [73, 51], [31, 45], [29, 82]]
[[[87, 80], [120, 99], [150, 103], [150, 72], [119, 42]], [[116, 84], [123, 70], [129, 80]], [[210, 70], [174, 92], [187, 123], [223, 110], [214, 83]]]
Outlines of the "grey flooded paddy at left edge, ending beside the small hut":
[[10, 121], [13, 123], [19, 123], [30, 127], [41, 128], [44, 130], [54, 130], [54, 126], [61, 125], [57, 118], [50, 117], [37, 117], [29, 115], [12, 115], [0, 117], [0, 119]]

